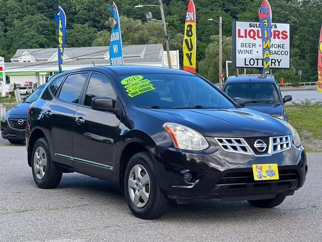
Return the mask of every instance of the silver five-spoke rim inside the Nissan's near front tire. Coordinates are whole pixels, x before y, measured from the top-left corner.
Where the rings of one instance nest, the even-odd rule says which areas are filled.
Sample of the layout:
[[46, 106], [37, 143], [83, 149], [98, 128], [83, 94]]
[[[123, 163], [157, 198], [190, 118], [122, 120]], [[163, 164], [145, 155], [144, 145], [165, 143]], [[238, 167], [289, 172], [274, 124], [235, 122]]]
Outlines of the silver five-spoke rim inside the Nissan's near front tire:
[[136, 207], [143, 208], [147, 204], [150, 196], [150, 177], [144, 166], [136, 164], [132, 167], [128, 190], [131, 201]]

